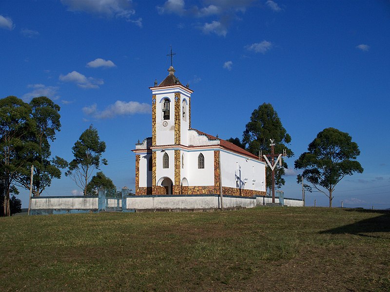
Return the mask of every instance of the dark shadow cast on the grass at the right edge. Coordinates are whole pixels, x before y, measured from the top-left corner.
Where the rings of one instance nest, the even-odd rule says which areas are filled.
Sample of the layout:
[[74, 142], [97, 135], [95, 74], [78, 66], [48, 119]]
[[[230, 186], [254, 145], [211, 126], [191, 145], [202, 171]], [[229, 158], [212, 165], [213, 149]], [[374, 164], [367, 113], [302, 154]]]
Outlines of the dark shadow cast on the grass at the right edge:
[[[378, 216], [321, 231], [320, 234], [355, 234], [362, 237], [390, 238], [390, 210], [345, 209], [346, 212], [376, 213]], [[385, 237], [370, 235], [388, 233]]]

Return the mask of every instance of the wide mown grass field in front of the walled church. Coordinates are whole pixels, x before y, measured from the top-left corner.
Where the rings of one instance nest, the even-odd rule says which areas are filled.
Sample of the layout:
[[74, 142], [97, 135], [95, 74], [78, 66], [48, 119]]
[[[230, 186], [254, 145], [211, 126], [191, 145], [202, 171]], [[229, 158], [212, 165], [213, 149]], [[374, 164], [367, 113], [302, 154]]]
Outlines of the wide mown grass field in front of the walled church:
[[390, 291], [390, 212], [0, 218], [1, 291]]

